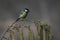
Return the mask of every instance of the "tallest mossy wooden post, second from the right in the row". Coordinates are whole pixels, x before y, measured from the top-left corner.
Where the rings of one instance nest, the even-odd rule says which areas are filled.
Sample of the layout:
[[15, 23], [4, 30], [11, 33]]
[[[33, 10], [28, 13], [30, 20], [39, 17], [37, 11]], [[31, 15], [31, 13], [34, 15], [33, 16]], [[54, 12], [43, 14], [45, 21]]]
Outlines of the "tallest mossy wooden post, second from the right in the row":
[[37, 31], [38, 31], [38, 40], [43, 40], [43, 25], [41, 24], [40, 21], [35, 23], [37, 26]]

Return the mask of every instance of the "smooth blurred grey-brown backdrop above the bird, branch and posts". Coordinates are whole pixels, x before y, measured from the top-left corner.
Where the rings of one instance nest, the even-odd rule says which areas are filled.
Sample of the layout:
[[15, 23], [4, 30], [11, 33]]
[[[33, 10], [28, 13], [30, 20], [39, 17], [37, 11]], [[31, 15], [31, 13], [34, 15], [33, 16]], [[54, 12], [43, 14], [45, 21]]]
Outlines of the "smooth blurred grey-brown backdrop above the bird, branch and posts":
[[0, 36], [24, 8], [30, 9], [26, 20], [50, 24], [54, 40], [60, 40], [60, 0], [0, 0]]

